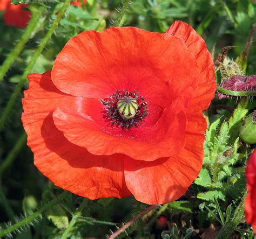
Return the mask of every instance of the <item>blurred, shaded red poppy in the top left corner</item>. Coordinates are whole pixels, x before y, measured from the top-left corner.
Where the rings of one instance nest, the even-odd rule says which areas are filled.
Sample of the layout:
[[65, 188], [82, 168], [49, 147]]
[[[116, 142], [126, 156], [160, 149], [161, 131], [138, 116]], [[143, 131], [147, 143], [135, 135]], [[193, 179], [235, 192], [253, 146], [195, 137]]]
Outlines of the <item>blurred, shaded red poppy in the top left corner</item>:
[[4, 22], [8, 26], [26, 27], [30, 18], [31, 12], [27, 9], [28, 4], [12, 4], [11, 0], [7, 4], [4, 12]]

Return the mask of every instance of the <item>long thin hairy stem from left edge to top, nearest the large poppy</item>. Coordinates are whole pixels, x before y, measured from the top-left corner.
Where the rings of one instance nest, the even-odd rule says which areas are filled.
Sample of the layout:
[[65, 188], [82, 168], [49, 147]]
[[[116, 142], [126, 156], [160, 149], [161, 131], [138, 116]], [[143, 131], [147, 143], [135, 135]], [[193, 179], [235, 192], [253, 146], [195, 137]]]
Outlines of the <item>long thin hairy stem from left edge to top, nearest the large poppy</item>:
[[11, 95], [10, 100], [9, 100], [7, 106], [5, 107], [5, 109], [3, 111], [3, 114], [0, 118], [0, 131], [2, 130], [2, 128], [4, 126], [4, 123], [7, 119], [10, 111], [12, 110], [12, 107], [14, 106], [14, 103], [15, 103], [17, 97], [21, 93], [22, 87], [24, 86], [24, 84], [26, 82], [26, 76], [31, 72], [33, 66], [35, 65], [35, 63], [38, 59], [38, 57], [41, 55], [42, 51], [44, 50], [44, 47], [46, 46], [46, 44], [50, 40], [52, 34], [56, 30], [60, 20], [64, 16], [66, 10], [69, 8], [70, 2], [71, 2], [71, 0], [65, 0], [65, 3], [62, 6], [62, 9], [58, 13], [58, 17], [54, 20], [50, 30], [46, 33], [45, 37], [41, 41], [39, 47], [37, 48], [35, 54], [33, 55], [32, 59], [31, 59], [31, 61], [29, 62], [29, 65], [26, 67], [23, 75], [21, 76], [21, 81], [19, 81], [18, 85], [15, 87], [14, 93]]

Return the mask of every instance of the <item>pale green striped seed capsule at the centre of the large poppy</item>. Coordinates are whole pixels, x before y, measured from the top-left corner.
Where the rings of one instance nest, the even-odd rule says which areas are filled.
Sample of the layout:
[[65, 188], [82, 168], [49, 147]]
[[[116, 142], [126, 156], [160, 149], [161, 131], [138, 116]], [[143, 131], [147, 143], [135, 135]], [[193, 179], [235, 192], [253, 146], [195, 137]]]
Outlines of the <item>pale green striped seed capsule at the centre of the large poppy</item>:
[[123, 97], [117, 102], [117, 109], [123, 118], [129, 119], [136, 115], [139, 104], [131, 96]]

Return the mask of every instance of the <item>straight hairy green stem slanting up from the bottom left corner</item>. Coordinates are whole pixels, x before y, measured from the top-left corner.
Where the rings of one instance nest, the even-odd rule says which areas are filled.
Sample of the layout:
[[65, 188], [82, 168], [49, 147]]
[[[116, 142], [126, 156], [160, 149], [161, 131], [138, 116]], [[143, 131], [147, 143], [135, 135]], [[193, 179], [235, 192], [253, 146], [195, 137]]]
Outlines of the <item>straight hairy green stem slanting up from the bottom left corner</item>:
[[23, 226], [25, 226], [26, 224], [28, 224], [29, 222], [32, 222], [33, 220], [37, 219], [38, 217], [40, 217], [42, 215], [42, 213], [44, 213], [46, 210], [50, 209], [51, 207], [53, 207], [54, 205], [56, 205], [57, 202], [59, 202], [60, 200], [62, 200], [69, 192], [63, 192], [62, 194], [60, 194], [57, 198], [53, 199], [52, 201], [50, 201], [49, 203], [47, 203], [46, 205], [44, 205], [41, 209], [39, 209], [37, 212], [31, 214], [30, 216], [26, 217], [25, 219], [23, 219], [22, 221], [0, 231], [0, 237], [6, 236], [10, 233], [12, 233], [12, 231], [15, 231]]

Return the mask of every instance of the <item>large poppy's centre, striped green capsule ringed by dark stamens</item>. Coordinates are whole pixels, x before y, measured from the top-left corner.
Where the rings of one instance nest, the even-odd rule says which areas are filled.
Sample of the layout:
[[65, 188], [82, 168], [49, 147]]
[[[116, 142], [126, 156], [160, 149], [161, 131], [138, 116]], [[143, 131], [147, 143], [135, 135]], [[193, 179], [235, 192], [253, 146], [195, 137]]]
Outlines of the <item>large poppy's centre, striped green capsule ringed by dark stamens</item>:
[[103, 114], [106, 120], [119, 128], [131, 129], [141, 125], [141, 122], [149, 114], [147, 102], [139, 93], [122, 90], [116, 91], [106, 99], [99, 99], [103, 104]]

